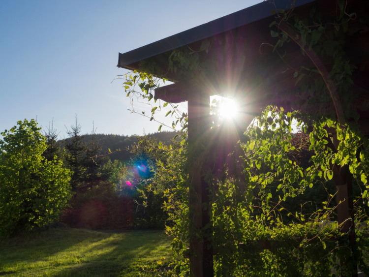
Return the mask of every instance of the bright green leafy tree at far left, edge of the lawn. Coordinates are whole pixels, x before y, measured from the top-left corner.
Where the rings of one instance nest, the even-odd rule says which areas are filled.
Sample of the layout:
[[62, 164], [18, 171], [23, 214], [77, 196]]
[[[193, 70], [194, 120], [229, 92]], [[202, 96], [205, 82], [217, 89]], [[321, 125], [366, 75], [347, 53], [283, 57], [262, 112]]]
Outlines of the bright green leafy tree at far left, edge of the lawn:
[[1, 236], [58, 219], [70, 198], [70, 172], [60, 160], [42, 156], [47, 146], [40, 129], [34, 120], [24, 120], [1, 133]]

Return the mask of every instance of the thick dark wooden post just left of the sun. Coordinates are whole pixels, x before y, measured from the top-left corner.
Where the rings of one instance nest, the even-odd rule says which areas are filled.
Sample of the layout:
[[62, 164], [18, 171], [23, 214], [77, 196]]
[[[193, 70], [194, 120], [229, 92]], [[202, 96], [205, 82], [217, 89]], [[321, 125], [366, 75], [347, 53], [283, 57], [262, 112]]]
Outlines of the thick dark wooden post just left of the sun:
[[191, 276], [194, 277], [214, 276], [212, 228], [208, 230], [209, 234], [206, 236], [201, 233], [201, 229], [211, 223], [207, 189], [209, 184], [204, 179], [206, 170], [204, 155], [210, 129], [209, 100], [209, 95], [200, 93], [191, 94], [188, 99], [189, 216], [191, 222], [189, 259]]

